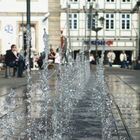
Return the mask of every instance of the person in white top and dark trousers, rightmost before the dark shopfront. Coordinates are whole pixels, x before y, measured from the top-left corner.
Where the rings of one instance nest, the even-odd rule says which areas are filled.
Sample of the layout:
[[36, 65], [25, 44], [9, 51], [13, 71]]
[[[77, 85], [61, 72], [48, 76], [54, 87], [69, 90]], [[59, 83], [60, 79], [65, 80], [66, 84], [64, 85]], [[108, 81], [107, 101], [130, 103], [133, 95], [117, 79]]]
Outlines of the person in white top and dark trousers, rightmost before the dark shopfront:
[[127, 55], [125, 51], [122, 51], [120, 54], [120, 62], [121, 62], [121, 68], [128, 68]]

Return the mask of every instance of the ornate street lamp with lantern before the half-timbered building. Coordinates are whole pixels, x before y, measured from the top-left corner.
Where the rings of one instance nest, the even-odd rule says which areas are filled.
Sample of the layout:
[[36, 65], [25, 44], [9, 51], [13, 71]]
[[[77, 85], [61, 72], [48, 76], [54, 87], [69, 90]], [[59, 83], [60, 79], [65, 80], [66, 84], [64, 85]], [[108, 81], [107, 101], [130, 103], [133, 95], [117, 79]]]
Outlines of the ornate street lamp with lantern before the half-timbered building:
[[98, 32], [103, 28], [103, 26], [104, 26], [104, 17], [100, 17], [99, 19], [98, 19], [98, 12], [96, 11], [95, 12], [95, 22], [96, 23], [98, 23], [98, 20], [100, 21], [100, 23], [101, 23], [101, 25], [102, 25], [102, 27], [98, 27], [98, 24], [97, 25], [95, 25], [95, 27], [93, 27], [92, 28], [92, 30], [93, 31], [95, 31], [95, 33], [96, 33], [96, 43], [95, 43], [95, 45], [96, 45], [96, 47], [95, 47], [95, 51], [96, 51], [96, 59], [98, 58], [98, 44], [97, 44], [97, 41], [98, 41]]

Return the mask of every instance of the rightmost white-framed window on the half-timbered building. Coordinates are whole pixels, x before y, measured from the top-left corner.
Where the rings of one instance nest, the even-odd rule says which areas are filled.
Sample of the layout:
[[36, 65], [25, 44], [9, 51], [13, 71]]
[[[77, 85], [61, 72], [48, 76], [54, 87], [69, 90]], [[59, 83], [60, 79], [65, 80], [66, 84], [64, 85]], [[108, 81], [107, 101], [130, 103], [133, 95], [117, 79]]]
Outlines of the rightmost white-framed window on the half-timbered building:
[[121, 18], [122, 29], [130, 29], [130, 15], [122, 14]]

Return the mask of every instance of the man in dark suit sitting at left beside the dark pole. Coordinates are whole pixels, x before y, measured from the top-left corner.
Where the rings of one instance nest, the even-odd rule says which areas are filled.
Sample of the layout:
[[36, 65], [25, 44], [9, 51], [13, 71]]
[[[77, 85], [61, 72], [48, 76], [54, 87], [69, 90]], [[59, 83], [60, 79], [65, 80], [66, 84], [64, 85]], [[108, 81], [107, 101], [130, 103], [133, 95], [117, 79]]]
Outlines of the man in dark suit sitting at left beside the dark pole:
[[[25, 62], [23, 57], [17, 52], [17, 47], [15, 44], [12, 44], [11, 49], [6, 51], [5, 64], [6, 66], [17, 69], [17, 77], [23, 76]], [[15, 76], [15, 73], [13, 76]]]

